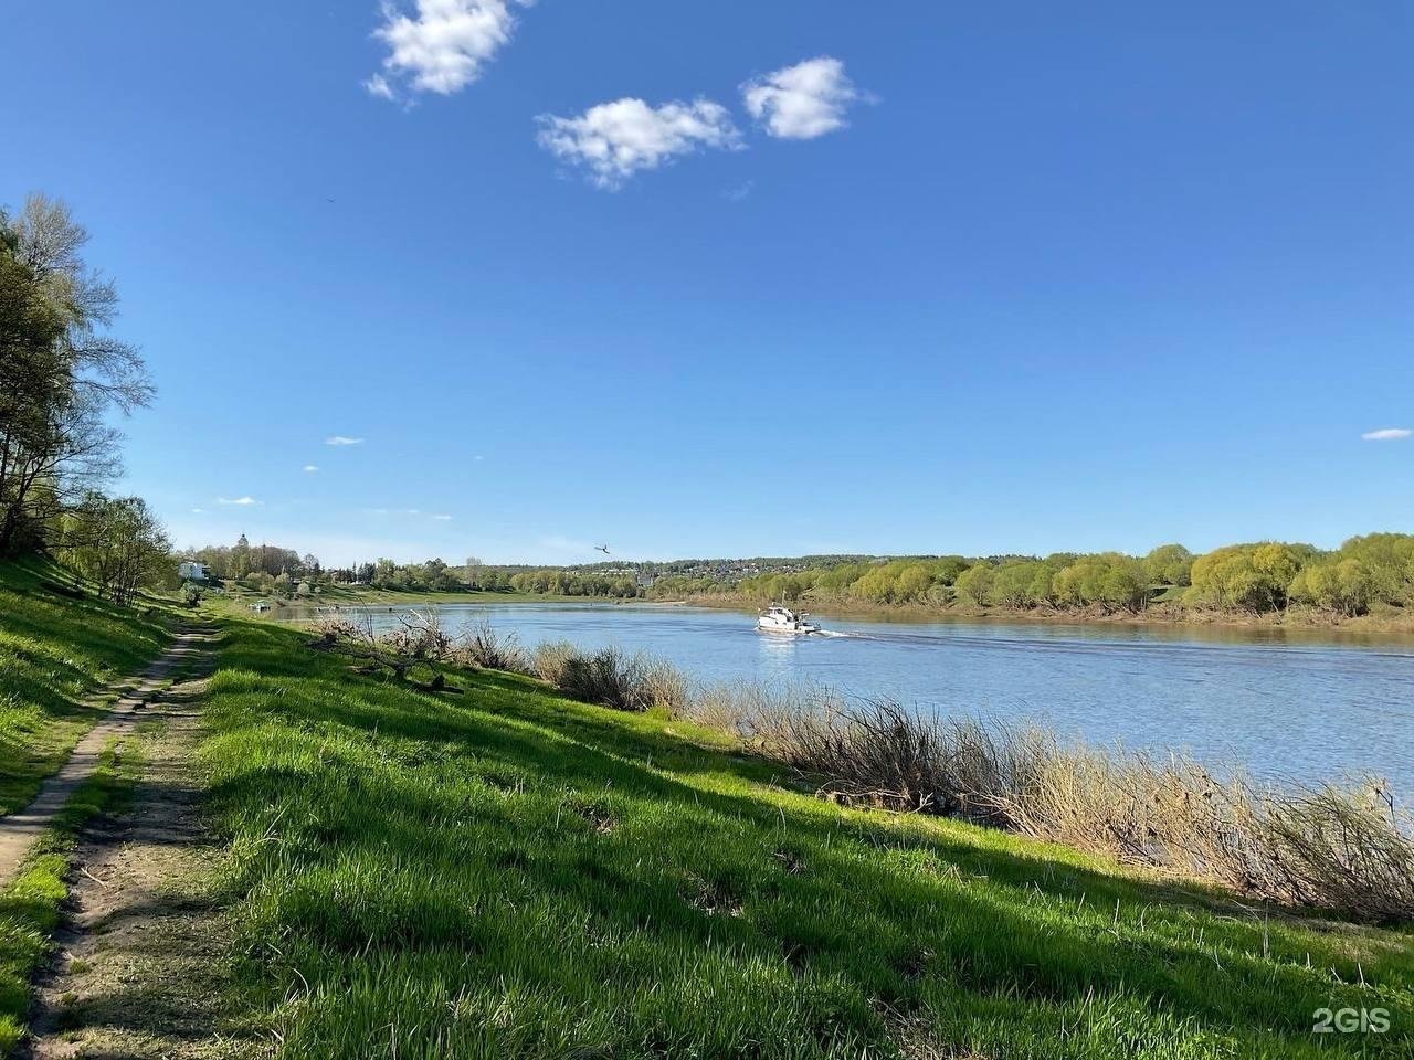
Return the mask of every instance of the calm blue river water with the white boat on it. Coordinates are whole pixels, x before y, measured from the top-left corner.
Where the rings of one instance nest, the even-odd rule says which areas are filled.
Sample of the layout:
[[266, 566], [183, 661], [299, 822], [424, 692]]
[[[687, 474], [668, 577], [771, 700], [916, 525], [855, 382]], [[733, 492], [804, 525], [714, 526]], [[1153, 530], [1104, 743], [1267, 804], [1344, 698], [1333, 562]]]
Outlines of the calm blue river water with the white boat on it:
[[[824, 635], [758, 633], [734, 611], [614, 603], [436, 608], [523, 644], [617, 644], [703, 683], [824, 684], [925, 709], [1046, 722], [1128, 748], [1189, 749], [1273, 779], [1387, 777], [1414, 799], [1414, 642], [1288, 630], [823, 616]], [[345, 609], [349, 613], [349, 609]], [[369, 609], [376, 625], [393, 620]]]

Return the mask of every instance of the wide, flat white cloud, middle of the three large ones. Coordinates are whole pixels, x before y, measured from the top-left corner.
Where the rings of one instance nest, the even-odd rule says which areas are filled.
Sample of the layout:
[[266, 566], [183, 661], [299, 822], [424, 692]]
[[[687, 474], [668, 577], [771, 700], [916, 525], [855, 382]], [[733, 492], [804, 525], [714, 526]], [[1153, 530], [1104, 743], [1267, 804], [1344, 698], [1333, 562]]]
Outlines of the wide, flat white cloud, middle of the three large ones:
[[625, 98], [592, 106], [578, 117], [542, 114], [537, 120], [537, 140], [544, 150], [584, 167], [597, 187], [608, 189], [680, 154], [741, 146], [727, 107], [710, 99], [650, 107], [642, 99]]

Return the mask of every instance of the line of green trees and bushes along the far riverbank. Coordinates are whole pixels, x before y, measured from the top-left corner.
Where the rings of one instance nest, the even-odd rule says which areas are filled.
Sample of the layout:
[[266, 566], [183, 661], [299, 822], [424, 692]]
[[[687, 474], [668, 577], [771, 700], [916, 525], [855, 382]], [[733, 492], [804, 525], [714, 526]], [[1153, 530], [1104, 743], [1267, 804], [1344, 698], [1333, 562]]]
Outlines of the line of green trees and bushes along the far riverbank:
[[[1007, 615], [1069, 620], [1275, 622], [1365, 628], [1414, 625], [1414, 536], [1352, 537], [1333, 551], [1258, 541], [1195, 555], [1181, 544], [1147, 555], [803, 557], [683, 560], [590, 567], [491, 567], [390, 560], [322, 568], [294, 550], [238, 543], [189, 553], [228, 588], [276, 598], [495, 592], [536, 598], [788, 602], [837, 612]], [[293, 557], [293, 558], [291, 558]], [[256, 570], [256, 567], [259, 570]], [[742, 571], [762, 570], [761, 574]], [[345, 588], [349, 587], [349, 588]]]

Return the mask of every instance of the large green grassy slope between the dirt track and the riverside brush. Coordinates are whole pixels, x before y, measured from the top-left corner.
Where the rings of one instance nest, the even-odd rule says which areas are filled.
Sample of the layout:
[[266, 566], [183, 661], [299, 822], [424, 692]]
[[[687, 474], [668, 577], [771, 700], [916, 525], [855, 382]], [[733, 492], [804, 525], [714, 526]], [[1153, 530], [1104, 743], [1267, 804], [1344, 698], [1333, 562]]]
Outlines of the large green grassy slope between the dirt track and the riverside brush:
[[[1414, 1050], [1408, 934], [1267, 924], [1073, 852], [841, 810], [680, 724], [462, 683], [392, 687], [230, 623], [204, 756], [284, 1057]], [[1393, 1029], [1314, 1036], [1322, 1006]]]

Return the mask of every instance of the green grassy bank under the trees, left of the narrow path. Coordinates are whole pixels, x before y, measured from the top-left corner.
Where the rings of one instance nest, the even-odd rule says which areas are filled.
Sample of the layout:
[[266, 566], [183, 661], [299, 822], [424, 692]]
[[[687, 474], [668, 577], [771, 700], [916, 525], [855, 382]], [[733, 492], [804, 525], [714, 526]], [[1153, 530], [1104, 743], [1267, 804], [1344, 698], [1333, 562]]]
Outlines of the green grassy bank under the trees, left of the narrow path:
[[27, 806], [103, 715], [83, 700], [161, 653], [173, 615], [102, 601], [52, 564], [0, 563], [0, 815]]

